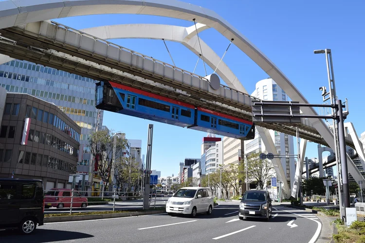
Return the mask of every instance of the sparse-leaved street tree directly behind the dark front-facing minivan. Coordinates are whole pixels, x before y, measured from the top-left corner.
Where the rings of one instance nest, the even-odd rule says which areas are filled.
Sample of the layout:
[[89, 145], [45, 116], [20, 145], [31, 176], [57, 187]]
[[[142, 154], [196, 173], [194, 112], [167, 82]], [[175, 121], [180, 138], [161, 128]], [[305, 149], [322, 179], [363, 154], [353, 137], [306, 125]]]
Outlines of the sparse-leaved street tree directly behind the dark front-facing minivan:
[[268, 159], [260, 159], [257, 153], [248, 156], [247, 164], [250, 182], [256, 184], [257, 189], [262, 190], [267, 181], [274, 175], [272, 162]]

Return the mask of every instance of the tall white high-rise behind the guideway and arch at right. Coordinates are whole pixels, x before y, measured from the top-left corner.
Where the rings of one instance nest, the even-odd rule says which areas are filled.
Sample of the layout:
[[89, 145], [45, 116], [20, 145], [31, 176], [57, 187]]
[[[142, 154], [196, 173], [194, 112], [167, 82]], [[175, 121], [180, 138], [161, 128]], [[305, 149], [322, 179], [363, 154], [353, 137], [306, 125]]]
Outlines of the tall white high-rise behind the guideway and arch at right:
[[[252, 93], [252, 96], [261, 100], [268, 101], [288, 101], [289, 97], [283, 89], [281, 89], [273, 79], [268, 78], [256, 83], [256, 89]], [[270, 135], [274, 141], [277, 153], [279, 155], [293, 155], [294, 154], [294, 142], [291, 135], [279, 133], [274, 130], [270, 130]], [[265, 145], [261, 141], [260, 136], [256, 132], [255, 139], [247, 140], [244, 142], [245, 155], [252, 155], [266, 151]], [[295, 163], [294, 158], [281, 158], [281, 164], [284, 172], [286, 173], [287, 181], [290, 181], [290, 186], [294, 182], [295, 176]]]

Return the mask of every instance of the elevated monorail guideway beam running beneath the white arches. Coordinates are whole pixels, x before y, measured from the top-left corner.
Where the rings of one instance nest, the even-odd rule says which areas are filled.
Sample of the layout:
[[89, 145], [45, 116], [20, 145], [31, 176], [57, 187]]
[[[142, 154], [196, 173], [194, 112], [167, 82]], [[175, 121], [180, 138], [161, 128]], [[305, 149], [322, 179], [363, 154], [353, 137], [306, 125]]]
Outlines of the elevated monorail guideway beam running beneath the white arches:
[[[73, 72], [93, 79], [113, 80], [132, 87], [200, 105], [243, 119], [252, 119], [254, 97], [236, 89], [219, 85], [192, 72], [169, 65], [109, 41], [61, 25], [54, 21], [38, 21], [0, 30], [2, 54]], [[10, 41], [12, 40], [12, 41]], [[260, 124], [267, 129], [300, 136], [328, 146], [307, 119], [302, 123]], [[354, 147], [351, 139], [347, 145]]]

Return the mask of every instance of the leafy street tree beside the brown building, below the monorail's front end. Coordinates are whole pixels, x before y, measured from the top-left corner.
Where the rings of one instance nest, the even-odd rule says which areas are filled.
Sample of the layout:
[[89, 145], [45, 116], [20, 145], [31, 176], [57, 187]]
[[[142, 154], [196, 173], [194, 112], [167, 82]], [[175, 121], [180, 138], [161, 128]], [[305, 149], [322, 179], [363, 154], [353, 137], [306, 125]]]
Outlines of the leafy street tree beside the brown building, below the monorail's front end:
[[116, 156], [119, 155], [125, 146], [126, 140], [117, 136], [114, 151], [114, 136], [108, 130], [95, 131], [90, 135], [88, 147], [92, 156], [95, 158], [97, 173], [106, 182], [106, 188], [108, 187], [111, 176], [113, 154], [115, 152]]

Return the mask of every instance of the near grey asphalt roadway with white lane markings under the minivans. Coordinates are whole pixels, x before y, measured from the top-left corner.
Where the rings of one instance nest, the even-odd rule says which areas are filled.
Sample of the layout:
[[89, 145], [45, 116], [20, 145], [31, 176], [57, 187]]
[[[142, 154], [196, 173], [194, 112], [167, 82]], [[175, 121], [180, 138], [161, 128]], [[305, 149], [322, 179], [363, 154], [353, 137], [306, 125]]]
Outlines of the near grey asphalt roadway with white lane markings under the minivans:
[[[275, 208], [275, 209], [274, 209]], [[167, 214], [50, 223], [29, 236], [0, 231], [1, 243], [314, 243], [320, 220], [304, 210], [274, 206], [273, 218], [238, 219], [237, 203], [221, 203], [211, 215], [195, 218]]]

